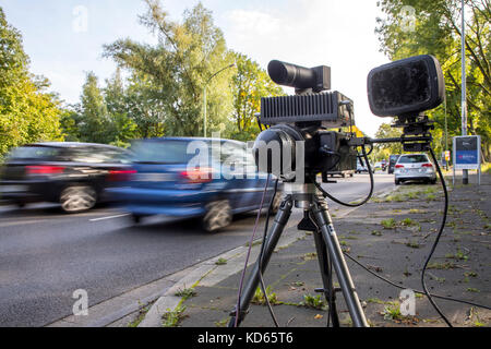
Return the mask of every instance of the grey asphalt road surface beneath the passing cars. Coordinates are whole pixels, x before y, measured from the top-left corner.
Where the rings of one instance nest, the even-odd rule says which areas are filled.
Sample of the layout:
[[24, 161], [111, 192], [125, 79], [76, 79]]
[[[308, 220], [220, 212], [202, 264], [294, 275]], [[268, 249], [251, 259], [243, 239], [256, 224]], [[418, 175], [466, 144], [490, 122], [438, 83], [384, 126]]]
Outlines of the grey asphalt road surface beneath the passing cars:
[[[369, 191], [368, 174], [335, 180], [324, 188], [346, 202]], [[393, 185], [393, 176], [375, 174], [375, 192]], [[290, 221], [300, 218], [296, 210]], [[240, 215], [225, 231], [207, 234], [193, 221], [164, 217], [133, 226], [111, 207], [80, 215], [48, 204], [0, 207], [0, 326], [48, 325], [72, 314], [77, 289], [87, 291], [92, 306], [243, 245], [254, 219], [254, 213]]]

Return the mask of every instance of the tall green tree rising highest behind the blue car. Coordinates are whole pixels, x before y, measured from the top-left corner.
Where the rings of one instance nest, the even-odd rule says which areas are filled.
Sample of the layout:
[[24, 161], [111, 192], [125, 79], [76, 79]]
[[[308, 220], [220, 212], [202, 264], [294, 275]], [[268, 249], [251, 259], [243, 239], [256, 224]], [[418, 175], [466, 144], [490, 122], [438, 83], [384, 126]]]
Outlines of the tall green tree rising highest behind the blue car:
[[[232, 62], [224, 35], [213, 23], [212, 13], [201, 3], [185, 11], [183, 22], [168, 19], [158, 0], [145, 0], [148, 12], [141, 24], [157, 35], [159, 44], [149, 46], [119, 39], [105, 46], [105, 57], [129, 69], [147, 84], [145, 94], [158, 101], [165, 134], [200, 135], [203, 120], [203, 87], [207, 84], [208, 128], [218, 130], [231, 111], [229, 79], [224, 72], [212, 81], [217, 69]], [[164, 116], [161, 116], [164, 112]], [[201, 117], [201, 118], [200, 118]]]

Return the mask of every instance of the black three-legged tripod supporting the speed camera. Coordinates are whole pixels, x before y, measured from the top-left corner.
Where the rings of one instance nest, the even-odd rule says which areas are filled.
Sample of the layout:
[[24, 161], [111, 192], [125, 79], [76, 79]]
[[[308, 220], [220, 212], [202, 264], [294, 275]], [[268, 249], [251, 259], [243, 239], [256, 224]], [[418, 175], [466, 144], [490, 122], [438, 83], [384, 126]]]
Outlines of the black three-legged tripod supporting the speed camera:
[[[264, 243], [264, 253], [258, 257], [258, 261], [252, 269], [252, 274], [246, 284], [242, 296], [239, 302], [239, 310], [236, 309], [230, 313], [231, 318], [229, 327], [233, 327], [237, 323], [239, 325], [246, 317], [249, 304], [254, 296], [254, 292], [260, 282], [260, 270], [264, 273], [267, 263], [276, 248], [276, 244], [288, 222], [294, 205], [297, 208], [303, 209], [303, 219], [298, 225], [299, 230], [312, 231], [314, 236], [315, 249], [318, 252], [318, 260], [321, 269], [323, 289], [315, 290], [325, 294], [330, 304], [330, 315], [333, 318], [333, 326], [339, 327], [339, 318], [336, 311], [335, 294], [342, 291], [352, 324], [356, 327], [368, 327], [367, 318], [358, 299], [355, 285], [346, 265], [339, 242], [337, 240], [336, 231], [334, 230], [333, 221], [328, 213], [328, 206], [324, 197], [321, 195], [315, 185], [309, 180], [306, 184], [285, 183], [286, 196], [280, 204], [279, 210], [276, 214], [275, 220], [267, 233]], [[333, 287], [332, 268], [337, 275], [339, 281], [339, 289]], [[236, 316], [238, 315], [238, 318]]]

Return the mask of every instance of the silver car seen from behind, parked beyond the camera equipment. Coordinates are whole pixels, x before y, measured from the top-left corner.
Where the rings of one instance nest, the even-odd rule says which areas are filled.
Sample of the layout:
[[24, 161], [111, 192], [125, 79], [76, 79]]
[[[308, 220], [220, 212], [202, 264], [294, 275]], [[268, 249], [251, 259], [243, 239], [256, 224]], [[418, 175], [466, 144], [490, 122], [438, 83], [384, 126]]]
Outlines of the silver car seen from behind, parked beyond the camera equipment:
[[394, 167], [395, 184], [405, 181], [436, 183], [436, 173], [426, 154], [402, 155]]

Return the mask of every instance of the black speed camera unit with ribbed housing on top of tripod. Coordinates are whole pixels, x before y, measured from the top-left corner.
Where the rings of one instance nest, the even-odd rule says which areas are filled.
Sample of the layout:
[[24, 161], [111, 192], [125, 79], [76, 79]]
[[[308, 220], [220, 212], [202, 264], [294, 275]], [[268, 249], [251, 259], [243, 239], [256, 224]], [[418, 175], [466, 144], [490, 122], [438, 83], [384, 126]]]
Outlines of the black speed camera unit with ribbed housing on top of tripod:
[[261, 99], [260, 123], [271, 128], [254, 142], [259, 169], [297, 182], [303, 182], [306, 174], [321, 172], [326, 178], [328, 171], [355, 170], [357, 152], [348, 145], [351, 134], [339, 131], [355, 125], [352, 100], [327, 91], [331, 69], [273, 60], [267, 71], [277, 84], [295, 87], [296, 95]]

